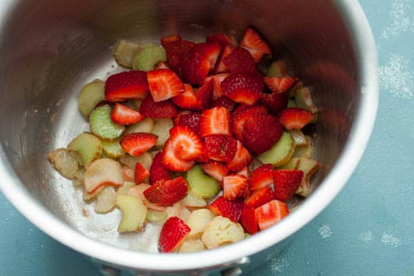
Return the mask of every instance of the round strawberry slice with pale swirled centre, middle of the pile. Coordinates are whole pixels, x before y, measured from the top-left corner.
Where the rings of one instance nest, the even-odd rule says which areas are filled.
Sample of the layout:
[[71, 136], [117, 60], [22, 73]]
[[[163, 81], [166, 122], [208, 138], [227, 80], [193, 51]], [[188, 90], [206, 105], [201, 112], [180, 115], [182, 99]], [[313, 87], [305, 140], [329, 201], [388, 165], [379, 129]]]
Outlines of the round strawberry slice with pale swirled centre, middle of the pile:
[[188, 126], [171, 128], [170, 141], [174, 148], [174, 155], [179, 159], [194, 160], [203, 153], [203, 141]]

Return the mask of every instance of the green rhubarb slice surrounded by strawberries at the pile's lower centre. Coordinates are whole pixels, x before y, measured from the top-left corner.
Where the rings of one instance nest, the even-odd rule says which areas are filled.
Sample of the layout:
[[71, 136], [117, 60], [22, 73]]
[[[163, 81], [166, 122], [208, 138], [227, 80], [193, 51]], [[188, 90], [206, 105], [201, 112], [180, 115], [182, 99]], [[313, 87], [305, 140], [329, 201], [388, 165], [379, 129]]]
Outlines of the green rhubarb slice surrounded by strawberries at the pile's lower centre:
[[220, 190], [217, 180], [206, 175], [199, 165], [188, 170], [187, 181], [191, 191], [198, 197], [211, 198], [217, 195]]

